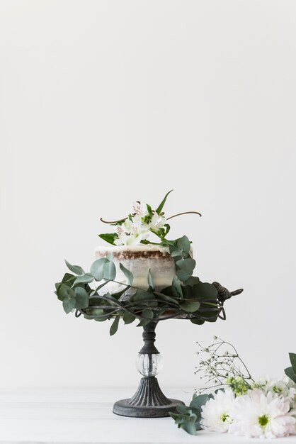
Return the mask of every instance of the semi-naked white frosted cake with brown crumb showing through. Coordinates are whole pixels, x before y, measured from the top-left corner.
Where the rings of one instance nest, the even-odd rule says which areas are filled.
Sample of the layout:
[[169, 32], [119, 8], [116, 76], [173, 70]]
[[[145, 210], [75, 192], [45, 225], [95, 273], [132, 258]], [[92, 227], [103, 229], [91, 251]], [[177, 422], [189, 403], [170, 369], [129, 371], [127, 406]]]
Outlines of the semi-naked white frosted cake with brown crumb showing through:
[[[128, 284], [125, 274], [120, 270], [121, 262], [134, 276], [133, 285], [141, 289], [147, 289], [148, 272], [152, 274], [154, 287], [160, 291], [169, 287], [176, 274], [175, 264], [169, 254], [169, 247], [161, 245], [120, 245], [120, 246], [98, 246], [96, 248], [96, 259], [106, 257], [110, 253], [116, 267], [116, 281]], [[103, 291], [118, 292], [124, 287], [114, 282], [109, 282], [103, 287]]]

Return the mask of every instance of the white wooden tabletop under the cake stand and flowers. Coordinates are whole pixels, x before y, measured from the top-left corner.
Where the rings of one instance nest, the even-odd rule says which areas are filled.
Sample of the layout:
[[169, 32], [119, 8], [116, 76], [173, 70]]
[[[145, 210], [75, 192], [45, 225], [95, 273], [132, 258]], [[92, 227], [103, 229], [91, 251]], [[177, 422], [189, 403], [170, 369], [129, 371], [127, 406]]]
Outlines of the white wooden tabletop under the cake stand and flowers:
[[[190, 401], [190, 390], [165, 390], [167, 396]], [[2, 390], [0, 443], [270, 443], [296, 444], [296, 437], [249, 440], [205, 431], [191, 436], [171, 418], [125, 418], [112, 413], [113, 402], [131, 389]]]

